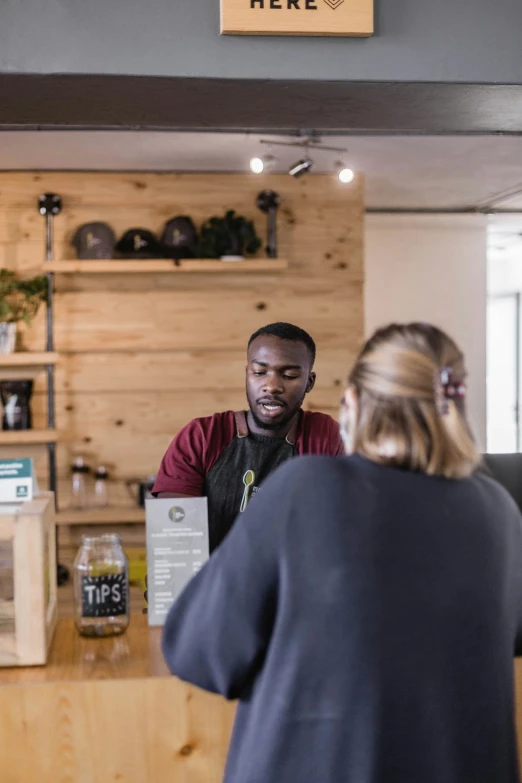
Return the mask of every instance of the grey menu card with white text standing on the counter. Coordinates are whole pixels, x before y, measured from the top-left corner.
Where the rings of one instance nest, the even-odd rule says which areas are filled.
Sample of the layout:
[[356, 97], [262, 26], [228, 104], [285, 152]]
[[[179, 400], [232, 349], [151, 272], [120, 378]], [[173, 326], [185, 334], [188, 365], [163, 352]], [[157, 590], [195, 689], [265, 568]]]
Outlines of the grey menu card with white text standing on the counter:
[[147, 498], [149, 625], [163, 625], [183, 588], [209, 557], [206, 498]]

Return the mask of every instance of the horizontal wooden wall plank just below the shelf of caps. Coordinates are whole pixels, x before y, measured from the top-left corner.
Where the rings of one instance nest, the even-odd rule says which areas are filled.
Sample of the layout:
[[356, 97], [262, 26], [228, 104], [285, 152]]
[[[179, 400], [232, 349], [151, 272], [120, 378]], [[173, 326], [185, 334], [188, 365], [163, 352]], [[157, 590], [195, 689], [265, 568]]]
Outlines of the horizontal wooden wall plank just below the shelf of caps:
[[[259, 326], [282, 319], [309, 330], [319, 346], [342, 348], [351, 335], [360, 336], [361, 296], [358, 283], [329, 289], [302, 281], [242, 296], [234, 291], [212, 296], [209, 288], [190, 296], [182, 290], [64, 293], [56, 303], [56, 349], [240, 349]], [[37, 350], [42, 337], [35, 325], [24, 342]]]

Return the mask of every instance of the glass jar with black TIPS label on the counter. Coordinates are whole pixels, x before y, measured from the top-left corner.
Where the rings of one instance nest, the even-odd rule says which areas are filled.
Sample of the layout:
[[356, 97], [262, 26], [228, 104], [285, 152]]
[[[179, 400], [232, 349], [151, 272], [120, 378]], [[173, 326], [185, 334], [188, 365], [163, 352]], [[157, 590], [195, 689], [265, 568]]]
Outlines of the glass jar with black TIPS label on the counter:
[[74, 561], [74, 603], [82, 636], [125, 632], [130, 620], [129, 561], [119, 536], [84, 536]]

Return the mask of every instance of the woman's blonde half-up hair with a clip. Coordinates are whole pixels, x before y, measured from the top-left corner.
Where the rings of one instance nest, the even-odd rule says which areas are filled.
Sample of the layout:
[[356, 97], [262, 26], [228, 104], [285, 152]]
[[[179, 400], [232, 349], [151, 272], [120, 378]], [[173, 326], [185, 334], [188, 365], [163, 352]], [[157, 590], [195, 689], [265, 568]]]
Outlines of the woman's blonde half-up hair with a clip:
[[[465, 416], [465, 379], [462, 352], [440, 329], [379, 329], [348, 378], [357, 396], [349, 451], [429, 475], [469, 476], [480, 455]], [[344, 409], [345, 435], [347, 418]]]

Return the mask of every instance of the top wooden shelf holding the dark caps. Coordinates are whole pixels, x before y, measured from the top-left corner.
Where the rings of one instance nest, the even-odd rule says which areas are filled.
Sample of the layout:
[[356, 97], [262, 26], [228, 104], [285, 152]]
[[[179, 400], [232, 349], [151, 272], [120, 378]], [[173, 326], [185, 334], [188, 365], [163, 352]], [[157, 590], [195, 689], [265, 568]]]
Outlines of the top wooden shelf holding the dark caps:
[[121, 261], [118, 259], [109, 261], [47, 261], [43, 266], [46, 272], [67, 275], [171, 274], [180, 272], [242, 274], [243, 272], [282, 272], [287, 267], [288, 262], [282, 258], [254, 258], [246, 261], [190, 259], [180, 261], [179, 266], [176, 266], [173, 261], [162, 258]]

